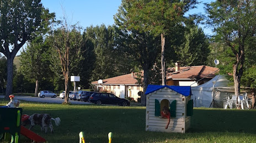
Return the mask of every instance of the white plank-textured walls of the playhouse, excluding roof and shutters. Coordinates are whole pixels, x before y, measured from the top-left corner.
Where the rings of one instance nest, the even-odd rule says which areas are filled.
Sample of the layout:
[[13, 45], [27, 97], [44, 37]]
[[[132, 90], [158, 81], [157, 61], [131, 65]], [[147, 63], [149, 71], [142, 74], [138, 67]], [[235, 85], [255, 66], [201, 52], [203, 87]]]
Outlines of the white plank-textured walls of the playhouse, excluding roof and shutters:
[[[168, 119], [156, 117], [155, 99], [161, 103], [166, 99], [169, 103], [176, 100], [176, 117], [170, 118], [168, 129], [165, 129]], [[190, 116], [186, 116], [186, 104], [190, 100], [190, 96], [183, 96], [167, 87], [152, 92], [147, 95], [146, 105], [146, 131], [161, 131], [169, 133], [185, 133], [190, 128]]]

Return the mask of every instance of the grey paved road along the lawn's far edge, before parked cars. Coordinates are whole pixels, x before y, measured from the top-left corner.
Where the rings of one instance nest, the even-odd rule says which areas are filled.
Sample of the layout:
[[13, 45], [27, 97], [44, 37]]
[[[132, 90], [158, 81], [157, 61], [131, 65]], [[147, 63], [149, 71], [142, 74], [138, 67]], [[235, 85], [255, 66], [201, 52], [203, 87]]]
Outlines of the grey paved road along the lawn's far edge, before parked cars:
[[[4, 98], [4, 96], [0, 96], [0, 98]], [[15, 100], [25, 100], [25, 101], [32, 101], [32, 102], [46, 102], [46, 103], [59, 103], [61, 104], [64, 100], [60, 97], [56, 98], [51, 98], [51, 97], [45, 97], [45, 98], [40, 98], [40, 97], [31, 97], [31, 96], [15, 96]], [[69, 100], [72, 105], [89, 105], [93, 103], [89, 102], [84, 102], [84, 101], [73, 101]]]

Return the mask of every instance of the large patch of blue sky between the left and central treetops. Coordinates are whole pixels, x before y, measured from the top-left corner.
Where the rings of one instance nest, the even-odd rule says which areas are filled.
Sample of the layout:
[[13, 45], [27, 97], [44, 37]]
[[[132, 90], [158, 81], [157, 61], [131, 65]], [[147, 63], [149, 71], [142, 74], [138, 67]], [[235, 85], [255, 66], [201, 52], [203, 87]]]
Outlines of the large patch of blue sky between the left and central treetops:
[[70, 23], [86, 28], [90, 25], [114, 24], [113, 15], [118, 12], [121, 0], [42, 0], [42, 5], [50, 12], [55, 12], [56, 18], [63, 17], [66, 12]]

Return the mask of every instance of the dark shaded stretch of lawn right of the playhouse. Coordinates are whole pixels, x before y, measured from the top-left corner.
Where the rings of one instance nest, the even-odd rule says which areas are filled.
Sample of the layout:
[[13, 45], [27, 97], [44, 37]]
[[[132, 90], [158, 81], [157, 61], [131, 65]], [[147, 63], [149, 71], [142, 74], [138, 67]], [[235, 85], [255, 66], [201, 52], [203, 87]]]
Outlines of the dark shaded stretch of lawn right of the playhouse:
[[194, 109], [191, 117], [191, 133], [205, 131], [256, 133], [255, 110]]

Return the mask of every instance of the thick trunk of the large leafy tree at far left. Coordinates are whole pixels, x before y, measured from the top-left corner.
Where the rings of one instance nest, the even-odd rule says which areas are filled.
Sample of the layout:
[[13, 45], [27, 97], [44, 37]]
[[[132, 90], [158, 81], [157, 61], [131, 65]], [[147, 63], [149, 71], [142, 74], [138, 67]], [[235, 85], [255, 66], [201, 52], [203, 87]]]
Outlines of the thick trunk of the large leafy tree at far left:
[[7, 57], [7, 85], [6, 96], [4, 98], [9, 99], [9, 95], [13, 94], [13, 59], [12, 56]]

